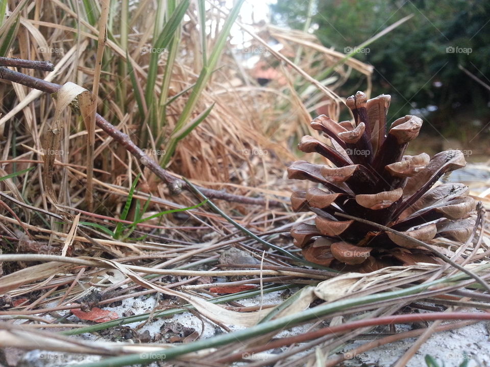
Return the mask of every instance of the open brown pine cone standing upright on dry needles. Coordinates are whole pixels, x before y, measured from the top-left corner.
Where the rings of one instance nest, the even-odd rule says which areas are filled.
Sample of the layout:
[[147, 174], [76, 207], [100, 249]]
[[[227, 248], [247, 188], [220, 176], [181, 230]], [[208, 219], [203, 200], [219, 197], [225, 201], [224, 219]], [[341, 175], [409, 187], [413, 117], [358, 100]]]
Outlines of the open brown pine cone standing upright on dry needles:
[[386, 131], [391, 97], [367, 100], [362, 92], [347, 98], [355, 126], [321, 115], [311, 122], [330, 139], [326, 145], [311, 136], [298, 148], [320, 153], [336, 167], [298, 161], [288, 177], [320, 183], [291, 195], [296, 212], [311, 211], [314, 224], [300, 223], [291, 235], [303, 256], [313, 263], [340, 270], [374, 271], [391, 265], [438, 263], [431, 252], [401, 236], [346, 220], [336, 213], [393, 228], [424, 242], [435, 237], [465, 242], [475, 220], [476, 202], [461, 183], [432, 186], [443, 174], [464, 167], [459, 150], [429, 155], [403, 155], [408, 142], [419, 135], [422, 120], [407, 115]]

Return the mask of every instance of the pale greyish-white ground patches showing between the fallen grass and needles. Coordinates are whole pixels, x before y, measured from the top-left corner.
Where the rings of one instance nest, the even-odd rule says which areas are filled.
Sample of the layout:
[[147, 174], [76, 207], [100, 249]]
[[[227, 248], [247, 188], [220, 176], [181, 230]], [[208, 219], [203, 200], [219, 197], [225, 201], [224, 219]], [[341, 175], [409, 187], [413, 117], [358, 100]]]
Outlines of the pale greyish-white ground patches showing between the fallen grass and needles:
[[[278, 303], [280, 302], [281, 293], [276, 292], [273, 294], [264, 295], [264, 304]], [[260, 298], [242, 300], [239, 303], [244, 306], [257, 305], [260, 302]], [[117, 312], [120, 316], [129, 309], [135, 314], [141, 314], [149, 312], [155, 304], [155, 298], [149, 297], [147, 299], [127, 299], [117, 307], [105, 307], [106, 309]], [[70, 321], [75, 322], [78, 319], [75, 316], [69, 318]], [[128, 324], [126, 327], [136, 329], [140, 323]], [[154, 337], [156, 334], [161, 334], [162, 330], [168, 329], [168, 325], [182, 325], [183, 327], [197, 330], [201, 334], [201, 338], [209, 338], [217, 333], [222, 332], [221, 329], [214, 323], [200, 320], [193, 316], [189, 312], [176, 314], [169, 319], [156, 319], [152, 322], [146, 323], [137, 332], [141, 335], [150, 334]], [[280, 337], [295, 335], [301, 333], [307, 329], [308, 325], [296, 327], [292, 330], [285, 330], [280, 333]], [[230, 327], [232, 330], [239, 329], [238, 327]], [[203, 331], [202, 331], [203, 330]], [[398, 331], [410, 330], [409, 325], [398, 326]], [[202, 332], [201, 332], [202, 331]], [[171, 331], [170, 331], [171, 334]], [[117, 333], [111, 331], [105, 336], [94, 336], [92, 334], [82, 334], [74, 336], [84, 340], [101, 342], [114, 342], [114, 338], [117, 338]], [[164, 334], [162, 339], [156, 343], [163, 343], [165, 337], [168, 334]], [[390, 344], [389, 346], [380, 347], [371, 350], [366, 353], [362, 353], [356, 356], [349, 356], [344, 365], [348, 366], [389, 366], [396, 362], [403, 353], [410, 348], [415, 341], [415, 338], [401, 340], [400, 342]], [[120, 340], [121, 342], [132, 342], [131, 339]], [[153, 340], [152, 340], [153, 341]], [[347, 352], [348, 350], [360, 346], [366, 343], [367, 340], [359, 340], [351, 343], [344, 350], [338, 351], [338, 354]], [[275, 351], [278, 352], [278, 351]], [[433, 334], [429, 340], [420, 348], [419, 352], [410, 360], [407, 364], [409, 367], [426, 366], [424, 358], [427, 354], [430, 354], [434, 358], [438, 359], [440, 366], [444, 361], [446, 367], [459, 366], [463, 361], [464, 353], [467, 353], [471, 358], [469, 367], [475, 366], [490, 366], [490, 341], [489, 331], [487, 325], [483, 322], [470, 325], [454, 331], [446, 331], [437, 334]], [[273, 356], [273, 354], [263, 353], [255, 356], [250, 356], [250, 361], [258, 359], [267, 359]], [[58, 354], [46, 351], [31, 351], [25, 353], [22, 360], [17, 364], [19, 367], [47, 367], [47, 366], [65, 366], [65, 365], [77, 365], [94, 361], [99, 359], [97, 356], [82, 356], [82, 355], [68, 355]], [[244, 365], [239, 363], [236, 365]], [[152, 363], [151, 366], [157, 366], [156, 363]]]

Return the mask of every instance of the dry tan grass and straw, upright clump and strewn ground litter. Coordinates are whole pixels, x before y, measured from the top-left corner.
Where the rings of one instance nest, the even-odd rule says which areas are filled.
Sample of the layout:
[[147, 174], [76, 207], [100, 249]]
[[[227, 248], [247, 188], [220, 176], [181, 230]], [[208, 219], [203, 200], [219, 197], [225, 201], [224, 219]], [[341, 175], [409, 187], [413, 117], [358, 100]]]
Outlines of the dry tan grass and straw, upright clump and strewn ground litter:
[[[98, 9], [95, 2], [85, 4]], [[96, 70], [95, 42], [100, 39], [99, 25], [91, 23], [92, 15], [86, 12], [82, 2], [21, 2], [17, 8], [20, 24], [15, 41], [9, 54], [4, 56], [52, 61], [55, 71], [51, 73], [29, 69], [21, 71], [60, 85], [72, 82], [87, 90], [98, 89], [97, 111], [100, 115], [130, 136], [140, 148], [146, 149], [151, 158], [164, 164], [176, 177], [184, 176], [203, 187], [284, 202], [283, 207], [275, 208], [224, 201], [215, 204], [262, 240], [293, 251], [288, 231], [293, 221], [305, 218], [291, 213], [288, 208], [291, 186], [298, 183], [285, 178], [285, 169], [298, 158], [295, 146], [299, 138], [305, 134], [316, 134], [309, 129], [311, 114], [321, 110], [338, 119], [344, 96], [339, 97], [336, 92], [351, 76], [352, 70], [364, 75], [366, 85], [370, 86], [371, 66], [352, 58], [344, 60], [345, 55], [321, 46], [311, 35], [256, 25], [252, 31], [253, 39], [247, 47], [261, 50], [262, 65], [274, 70], [269, 70], [274, 73], [271, 82], [260, 86], [257, 83], [258, 71], [247, 69], [242, 62], [250, 55], [227, 43], [212, 73], [208, 71], [209, 78], [188, 118], [182, 121], [192, 87], [199, 81], [208, 62], [203, 58], [203, 50], [207, 50], [209, 56], [217, 47], [219, 29], [215, 27], [223, 24], [228, 10], [215, 7], [218, 2], [206, 3], [209, 8], [206, 24], [211, 32], [202, 34], [199, 9], [195, 9], [192, 3], [178, 27], [179, 31], [173, 34], [175, 44], [170, 42], [158, 58], [156, 76], [150, 80], [152, 53], [142, 50], [155, 45], [153, 35], [158, 35], [157, 31], [163, 28], [163, 25], [159, 28], [159, 19], [162, 23], [168, 21], [168, 14], [163, 15], [166, 10], [161, 9], [160, 14], [160, 10], [154, 8], [156, 4], [160, 3], [131, 3], [129, 15], [122, 8], [110, 9], [107, 24], [104, 24], [108, 28], [108, 39], [100, 75]], [[11, 5], [9, 3], [9, 7]], [[163, 2], [160, 5], [164, 7]], [[9, 9], [13, 11], [15, 7]], [[95, 19], [98, 12], [96, 10], [93, 15]], [[14, 15], [10, 13], [6, 19], [13, 19]], [[2, 27], [13, 26], [4, 20]], [[0, 34], [3, 31], [0, 29]], [[273, 41], [282, 44], [279, 52], [271, 46]], [[169, 51], [171, 47], [174, 47], [173, 51]], [[298, 49], [302, 54], [298, 62], [293, 63]], [[326, 80], [315, 79], [331, 67], [334, 71]], [[129, 75], [131, 69], [134, 70], [134, 80]], [[312, 80], [315, 83], [312, 84]], [[150, 93], [145, 96], [148, 90]], [[92, 181], [90, 197], [93, 208], [90, 209], [92, 205], [86, 199], [87, 175], [91, 175], [90, 164], [87, 164], [89, 134], [82, 118], [66, 108], [60, 111], [57, 122], [55, 111], [59, 99], [56, 101], [50, 95], [15, 83], [0, 84], [0, 100], [0, 177], [32, 168], [0, 182], [0, 244], [3, 252], [0, 264], [4, 274], [0, 278], [0, 294], [3, 295], [0, 297], [0, 317], [4, 320], [0, 323], [0, 344], [3, 347], [105, 356], [160, 350], [162, 345], [157, 343], [100, 345], [80, 342], [59, 333], [59, 330], [75, 333], [78, 328], [91, 324], [67, 321], [71, 309], [104, 308], [113, 302], [159, 293], [185, 300], [189, 303], [186, 307], [197, 310], [193, 311], [194, 314], [212, 320], [224, 330], [240, 323], [251, 326], [252, 330], [250, 335], [240, 336], [243, 343], [237, 343], [236, 339], [224, 342], [216, 339], [215, 350], [205, 349], [199, 344], [175, 343], [175, 358], [180, 360], [176, 365], [187, 360], [195, 361], [198, 353], [203, 365], [217, 365], [216, 360], [221, 363], [219, 365], [227, 365], [240, 359], [246, 351], [253, 350], [257, 340], [260, 341], [258, 344], [266, 344], [263, 341], [274, 336], [267, 332], [280, 327], [262, 330], [261, 324], [252, 326], [276, 306], [285, 308], [281, 317], [303, 315], [295, 322], [309, 322], [311, 330], [318, 329], [320, 322], [331, 326], [338, 324], [340, 316], [345, 317], [343, 325], [348, 324], [353, 313], [363, 315], [360, 318], [374, 319], [363, 327], [339, 328], [336, 337], [327, 331], [309, 337], [308, 330], [305, 339], [279, 339], [282, 344], [278, 346], [292, 346], [292, 349], [250, 363], [258, 366], [287, 360], [291, 365], [313, 365], [328, 360], [326, 365], [333, 365], [339, 361], [335, 356], [328, 359], [330, 352], [336, 352], [348, 340], [372, 330], [377, 325], [378, 316], [389, 316], [406, 305], [410, 305], [410, 311], [413, 311], [416, 308], [413, 302], [417, 300], [443, 305], [447, 301], [455, 309], [488, 307], [487, 295], [468, 277], [449, 278], [450, 283], [437, 283], [449, 277], [451, 269], [441, 270], [428, 265], [388, 269], [372, 277], [346, 283], [326, 270], [300, 268], [301, 264], [287, 255], [251, 240], [207, 206], [169, 213], [132, 225], [133, 221], [141, 218], [169, 209], [185, 208], [201, 200], [189, 194], [171, 196], [159, 178], [101, 129], [95, 129], [94, 134], [93, 178], [89, 178]], [[146, 103], [149, 101], [153, 104]], [[169, 161], [165, 162], [165, 154], [173, 139], [199, 121], [213, 103], [214, 107], [206, 118], [178, 141], [175, 153], [170, 154]], [[182, 122], [183, 125], [179, 126]], [[46, 176], [46, 166], [43, 168], [46, 156], [42, 150], [46, 147], [48, 132], [56, 123], [60, 124], [61, 130], [60, 154], [48, 167], [50, 175]], [[141, 176], [133, 193], [131, 188], [138, 174]], [[480, 182], [479, 188], [476, 188], [476, 183], [474, 185], [475, 195], [480, 195], [479, 199], [489, 207], [488, 183]], [[55, 197], [48, 196], [47, 190], [51, 190], [48, 188], [52, 188]], [[125, 210], [128, 197], [133, 200]], [[488, 279], [485, 262], [488, 230], [482, 229], [477, 238], [480, 241], [467, 244], [460, 252], [455, 252], [457, 244], [445, 244], [447, 255], [459, 263], [464, 260], [469, 269]], [[223, 267], [223, 261], [218, 263], [218, 257], [227, 253], [231, 246], [247, 253], [248, 257], [246, 260], [232, 258], [229, 260], [232, 264]], [[240, 268], [244, 265], [248, 265], [247, 270]], [[330, 286], [337, 290], [333, 298], [322, 293], [325, 289], [321, 285], [316, 286], [318, 280], [325, 279], [331, 279], [333, 285]], [[417, 288], [423, 281], [437, 284], [428, 283], [432, 287]], [[282, 289], [290, 287], [294, 291], [305, 284], [313, 286], [306, 287], [294, 302], [291, 298], [282, 305], [278, 302], [259, 309], [241, 309], [250, 311], [243, 313], [225, 307], [211, 307], [211, 302], [207, 301], [231, 302], [231, 306], [240, 307], [233, 301], [260, 292], [248, 291], [214, 300], [217, 295], [210, 289], [217, 282], [234, 286], [258, 284], [265, 293], [279, 289], [274, 288], [275, 285], [282, 286]], [[455, 293], [464, 287], [468, 287], [471, 297]], [[396, 293], [412, 288], [413, 293]], [[393, 290], [395, 295], [377, 300], [376, 294], [386, 290]], [[87, 298], [94, 294], [100, 298]], [[323, 309], [321, 312], [324, 313], [318, 313], [318, 319], [315, 319], [307, 312], [310, 303], [318, 297], [328, 301], [323, 306], [330, 302], [338, 307]], [[359, 301], [359, 297], [365, 298]], [[479, 303], [475, 305], [472, 301]], [[144, 324], [149, 318], [180, 312], [180, 307], [175, 299], [167, 300], [139, 319], [119, 315], [116, 322], [95, 324], [95, 327], [82, 330], [96, 332], [115, 327], [118, 322], [139, 321]], [[361, 311], [366, 313], [359, 313]], [[14, 320], [10, 320], [12, 318]], [[292, 320], [290, 325], [293, 325]], [[269, 325], [268, 322], [271, 321], [265, 320], [263, 324]], [[451, 327], [461, 325], [452, 324]], [[446, 325], [444, 327], [447, 328]], [[437, 328], [443, 327], [435, 325], [428, 328], [427, 333]], [[422, 331], [400, 334], [399, 337], [420, 334]], [[393, 342], [393, 339], [385, 342]], [[306, 343], [307, 340], [310, 341]], [[186, 350], [186, 346], [195, 346], [195, 349]], [[315, 354], [315, 346], [320, 346], [321, 352]], [[307, 350], [307, 354], [300, 359], [294, 357], [301, 349]], [[130, 364], [129, 361], [122, 363]]]

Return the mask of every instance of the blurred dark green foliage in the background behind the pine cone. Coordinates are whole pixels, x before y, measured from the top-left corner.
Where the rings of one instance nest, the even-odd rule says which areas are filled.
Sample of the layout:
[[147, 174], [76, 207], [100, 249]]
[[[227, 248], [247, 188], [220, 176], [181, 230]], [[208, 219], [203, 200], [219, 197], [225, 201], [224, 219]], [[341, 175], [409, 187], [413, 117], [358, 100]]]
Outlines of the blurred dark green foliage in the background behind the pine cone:
[[[466, 142], [489, 137], [490, 2], [281, 0], [271, 8], [275, 24], [304, 29], [309, 22], [309, 32], [342, 53], [413, 14], [354, 56], [375, 68], [372, 96], [391, 94], [390, 121], [422, 115], [423, 134]], [[339, 94], [367, 88], [355, 74]]]

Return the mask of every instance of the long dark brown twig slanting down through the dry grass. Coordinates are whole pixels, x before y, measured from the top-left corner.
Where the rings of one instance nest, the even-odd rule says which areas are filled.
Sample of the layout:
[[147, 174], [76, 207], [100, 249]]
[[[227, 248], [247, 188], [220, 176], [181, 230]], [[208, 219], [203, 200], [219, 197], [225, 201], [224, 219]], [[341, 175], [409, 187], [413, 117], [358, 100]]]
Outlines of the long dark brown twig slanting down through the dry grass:
[[[50, 94], [58, 92], [59, 89], [61, 88], [61, 86], [58, 84], [46, 82], [42, 79], [29, 76], [26, 74], [22, 74], [20, 72], [13, 71], [1, 66], [0, 66], [0, 78], [14, 83], [22, 84], [24, 86], [34, 88]], [[109, 136], [111, 136], [119, 144], [124, 146], [126, 150], [128, 150], [131, 154], [133, 154], [143, 166], [148, 167], [163, 182], [165, 182], [171, 194], [173, 195], [180, 194], [182, 190], [191, 192], [190, 188], [188, 187], [187, 183], [184, 180], [174, 177], [169, 172], [167, 172], [162, 167], [160, 167], [160, 165], [157, 162], [152, 160], [136, 144], [134, 144], [128, 135], [120, 132], [110, 122], [105, 120], [101, 115], [99, 114], [95, 115], [95, 124], [100, 128], [102, 128]], [[232, 202], [238, 202], [238, 203], [250, 204], [250, 205], [266, 204], [266, 200], [263, 198], [251, 198], [251, 197], [246, 197], [241, 195], [234, 195], [224, 191], [206, 189], [201, 187], [199, 188], [199, 190], [210, 199], [226, 200], [226, 201], [232, 201]], [[268, 205], [277, 207], [277, 206], [281, 206], [282, 203], [276, 200], [269, 200]]]

